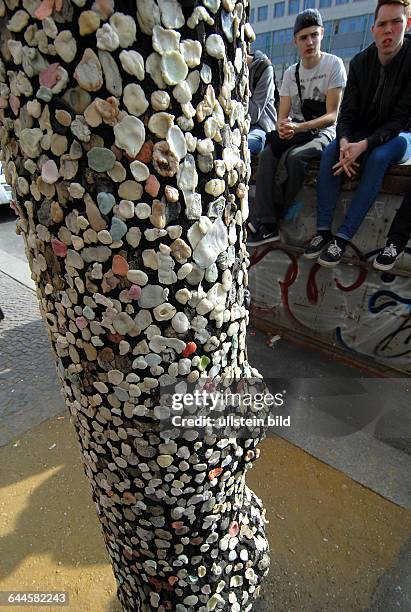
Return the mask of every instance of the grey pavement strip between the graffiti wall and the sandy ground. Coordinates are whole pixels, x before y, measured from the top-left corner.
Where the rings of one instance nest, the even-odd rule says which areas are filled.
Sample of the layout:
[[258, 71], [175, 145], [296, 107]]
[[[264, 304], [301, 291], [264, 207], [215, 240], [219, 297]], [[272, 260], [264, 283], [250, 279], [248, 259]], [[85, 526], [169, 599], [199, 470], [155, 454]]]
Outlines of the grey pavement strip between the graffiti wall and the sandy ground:
[[277, 433], [387, 499], [411, 509], [410, 379], [367, 375], [279, 338], [269, 348], [250, 330], [250, 363], [272, 393], [285, 389]]

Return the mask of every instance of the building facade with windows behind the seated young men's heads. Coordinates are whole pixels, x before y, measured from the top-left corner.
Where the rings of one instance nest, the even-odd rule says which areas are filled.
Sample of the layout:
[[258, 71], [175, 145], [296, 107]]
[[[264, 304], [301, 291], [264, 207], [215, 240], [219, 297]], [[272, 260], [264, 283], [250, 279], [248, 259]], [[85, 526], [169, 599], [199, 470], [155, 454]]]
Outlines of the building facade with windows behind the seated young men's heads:
[[350, 59], [373, 40], [375, 5], [375, 0], [251, 0], [250, 22], [256, 33], [252, 49], [271, 58], [280, 83], [284, 70], [298, 59], [295, 17], [304, 9], [317, 8], [324, 21], [322, 50], [341, 57], [348, 69]]

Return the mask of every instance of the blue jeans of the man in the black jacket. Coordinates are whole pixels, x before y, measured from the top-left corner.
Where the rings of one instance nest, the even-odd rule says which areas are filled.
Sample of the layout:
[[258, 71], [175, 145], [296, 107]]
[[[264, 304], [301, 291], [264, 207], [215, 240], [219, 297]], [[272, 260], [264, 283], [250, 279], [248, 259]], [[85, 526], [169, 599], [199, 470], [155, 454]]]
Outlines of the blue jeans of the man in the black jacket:
[[[317, 181], [317, 229], [329, 230], [337, 206], [342, 176], [334, 176], [332, 167], [338, 162], [340, 147], [333, 140], [323, 151]], [[361, 179], [353, 195], [345, 219], [336, 236], [351, 240], [380, 190], [384, 173], [391, 164], [399, 164], [411, 157], [411, 132], [401, 132], [395, 138], [369, 153], [366, 152], [361, 168]]]

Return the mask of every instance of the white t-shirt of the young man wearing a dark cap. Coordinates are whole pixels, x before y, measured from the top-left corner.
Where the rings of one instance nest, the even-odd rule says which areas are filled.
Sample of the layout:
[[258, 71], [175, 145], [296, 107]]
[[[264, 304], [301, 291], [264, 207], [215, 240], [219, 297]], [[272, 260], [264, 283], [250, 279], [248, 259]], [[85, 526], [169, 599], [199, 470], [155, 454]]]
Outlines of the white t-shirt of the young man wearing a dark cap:
[[[284, 73], [283, 82], [280, 87], [280, 96], [291, 98], [290, 115], [296, 121], [305, 121], [301, 112], [300, 97], [298, 95], [297, 82], [295, 80], [295, 68], [293, 64]], [[303, 100], [319, 100], [325, 102], [327, 91], [337, 87], [345, 87], [347, 73], [340, 57], [330, 53], [321, 53], [321, 59], [314, 68], [304, 68], [300, 62], [300, 84]], [[327, 134], [330, 140], [335, 138], [335, 123], [321, 130]]]

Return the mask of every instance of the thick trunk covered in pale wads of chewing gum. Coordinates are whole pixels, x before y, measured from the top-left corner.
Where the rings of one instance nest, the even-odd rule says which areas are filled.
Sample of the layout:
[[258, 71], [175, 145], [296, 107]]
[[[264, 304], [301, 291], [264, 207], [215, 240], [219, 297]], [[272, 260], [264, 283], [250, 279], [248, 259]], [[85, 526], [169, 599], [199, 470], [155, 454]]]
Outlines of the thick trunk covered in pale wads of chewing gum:
[[268, 571], [245, 484], [262, 434], [174, 426], [170, 396], [260, 378], [247, 16], [247, 0], [0, 0], [3, 164], [130, 612], [245, 612]]

